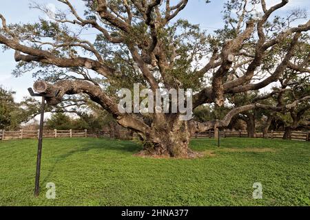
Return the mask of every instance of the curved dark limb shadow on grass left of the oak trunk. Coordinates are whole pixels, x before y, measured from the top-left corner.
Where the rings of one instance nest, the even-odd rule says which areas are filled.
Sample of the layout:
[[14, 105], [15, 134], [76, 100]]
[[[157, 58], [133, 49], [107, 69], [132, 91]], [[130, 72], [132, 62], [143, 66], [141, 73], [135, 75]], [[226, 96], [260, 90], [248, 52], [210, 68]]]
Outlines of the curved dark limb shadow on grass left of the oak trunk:
[[52, 165], [52, 168], [48, 170], [48, 175], [46, 175], [46, 177], [43, 179], [42, 182], [45, 182], [50, 178], [50, 176], [54, 172], [56, 164], [63, 161], [67, 157], [74, 155], [75, 153], [87, 152], [87, 151], [96, 149], [100, 151], [118, 151], [120, 153], [133, 155], [134, 153], [141, 151], [142, 148], [143, 147], [140, 144], [130, 142], [130, 141], [121, 141], [121, 140], [112, 140], [112, 139], [104, 140], [103, 142], [98, 142], [98, 140], [96, 140], [96, 142], [87, 141], [83, 143], [83, 146], [75, 150], [69, 151], [68, 153], [64, 153], [63, 155], [57, 156], [57, 159]]

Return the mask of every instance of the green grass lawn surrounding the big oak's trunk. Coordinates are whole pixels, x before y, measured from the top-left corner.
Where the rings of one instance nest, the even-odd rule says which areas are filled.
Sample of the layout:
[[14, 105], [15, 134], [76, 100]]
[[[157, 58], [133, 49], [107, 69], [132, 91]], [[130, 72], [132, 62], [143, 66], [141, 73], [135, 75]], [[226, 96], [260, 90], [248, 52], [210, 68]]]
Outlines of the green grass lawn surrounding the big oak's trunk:
[[[37, 140], [0, 141], [0, 206], [309, 206], [310, 143], [192, 140], [199, 159], [134, 156], [130, 141], [45, 139], [34, 199]], [[56, 184], [56, 199], [45, 185]], [[254, 182], [262, 199], [253, 199]]]

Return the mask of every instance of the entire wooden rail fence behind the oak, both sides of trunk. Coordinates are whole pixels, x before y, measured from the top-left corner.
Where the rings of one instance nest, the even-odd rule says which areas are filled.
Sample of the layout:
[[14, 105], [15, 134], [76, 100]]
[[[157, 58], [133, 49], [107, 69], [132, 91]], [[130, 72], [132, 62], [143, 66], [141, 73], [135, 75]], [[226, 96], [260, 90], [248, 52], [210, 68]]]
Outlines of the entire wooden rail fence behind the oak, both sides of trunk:
[[[220, 137], [248, 137], [247, 131], [218, 131]], [[271, 139], [280, 139], [284, 135], [284, 131], [269, 131], [268, 137]], [[74, 131], [70, 130], [47, 130], [43, 131], [43, 137], [110, 137], [109, 132], [104, 131]], [[214, 138], [214, 131], [206, 131], [203, 133], [195, 133], [195, 138], [209, 137]], [[255, 137], [263, 137], [261, 132], [256, 132]], [[39, 130], [37, 131], [5, 131], [0, 130], [0, 140], [24, 139], [24, 138], [39, 138]], [[310, 141], [310, 131], [291, 131], [291, 140]]]

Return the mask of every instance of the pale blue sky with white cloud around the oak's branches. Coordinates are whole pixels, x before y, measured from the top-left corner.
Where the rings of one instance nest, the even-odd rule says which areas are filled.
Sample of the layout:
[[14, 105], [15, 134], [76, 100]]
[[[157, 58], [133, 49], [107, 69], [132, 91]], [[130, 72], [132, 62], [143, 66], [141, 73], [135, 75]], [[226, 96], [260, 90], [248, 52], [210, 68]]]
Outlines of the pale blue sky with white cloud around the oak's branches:
[[[0, 0], [3, 1], [3, 0]], [[266, 0], [267, 6], [280, 2], [280, 0]], [[30, 10], [30, 0], [3, 1], [1, 2], [0, 13], [6, 17], [8, 23], [27, 23], [37, 21], [38, 17], [43, 14], [38, 10]], [[56, 0], [37, 0], [41, 4], [59, 5]], [[172, 3], [176, 0], [172, 1]], [[199, 23], [201, 27], [212, 32], [215, 28], [223, 26], [221, 10], [223, 9], [224, 0], [211, 0], [211, 3], [205, 4], [205, 0], [189, 0], [185, 10], [180, 13], [179, 18], [188, 19], [191, 23]], [[81, 1], [72, 1], [77, 10], [83, 11]], [[293, 8], [305, 8], [310, 10], [309, 0], [290, 0], [285, 8], [280, 10], [280, 14], [286, 14]], [[83, 14], [83, 13], [82, 13]], [[88, 36], [87, 38], [92, 38]], [[14, 62], [12, 50], [4, 53], [0, 52], [0, 85], [6, 89], [17, 91], [15, 99], [20, 101], [23, 96], [28, 96], [27, 88], [31, 87], [34, 79], [30, 74], [24, 74], [19, 78], [11, 75], [12, 69], [16, 63]]]

